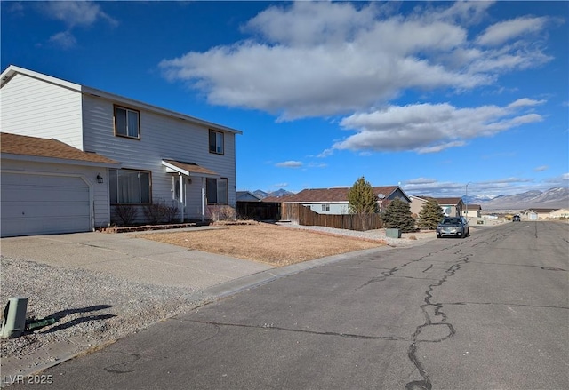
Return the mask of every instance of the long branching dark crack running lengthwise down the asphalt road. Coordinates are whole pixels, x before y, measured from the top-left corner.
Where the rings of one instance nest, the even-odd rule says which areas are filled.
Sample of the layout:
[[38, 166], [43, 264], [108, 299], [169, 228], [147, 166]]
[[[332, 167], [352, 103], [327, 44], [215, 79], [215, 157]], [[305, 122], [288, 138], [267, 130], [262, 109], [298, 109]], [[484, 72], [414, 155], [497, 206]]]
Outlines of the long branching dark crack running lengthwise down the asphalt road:
[[[460, 250], [455, 252], [455, 254], [458, 254], [459, 252], [461, 252]], [[454, 330], [453, 324], [450, 322], [447, 322], [447, 317], [445, 312], [442, 311], [443, 308], [443, 304], [441, 303], [434, 303], [431, 302], [431, 299], [433, 298], [433, 294], [432, 292], [437, 288], [440, 287], [441, 285], [443, 285], [451, 276], [453, 276], [454, 274], [456, 274], [457, 271], [459, 271], [461, 269], [461, 265], [462, 264], [466, 264], [469, 262], [469, 255], [462, 255], [459, 259], [455, 260], [456, 262], [453, 264], [453, 266], [449, 267], [446, 271], [445, 271], [445, 275], [443, 275], [442, 278], [440, 278], [437, 283], [432, 283], [429, 285], [429, 287], [427, 288], [427, 290], [425, 291], [425, 304], [421, 305], [421, 311], [423, 312], [423, 315], [425, 316], [425, 322], [422, 323], [421, 325], [419, 325], [417, 327], [417, 329], [415, 330], [415, 332], [412, 335], [412, 343], [409, 346], [409, 348], [407, 349], [407, 356], [409, 357], [409, 360], [411, 362], [413, 362], [414, 366], [417, 368], [417, 370], [419, 371], [419, 375], [421, 375], [421, 380], [413, 380], [412, 382], [408, 382], [405, 385], [405, 389], [406, 390], [431, 390], [433, 385], [430, 381], [429, 378], [429, 373], [427, 372], [427, 370], [425, 370], [421, 359], [419, 359], [419, 356], [417, 355], [417, 347], [420, 343], [440, 343], [442, 341], [445, 341], [448, 338], [452, 338], [454, 336], [454, 334], [456, 333], [456, 330]], [[431, 316], [429, 315], [429, 311], [428, 309], [433, 309], [434, 308], [434, 317], [438, 318], [437, 321], [434, 321], [434, 319], [431, 319]], [[426, 330], [428, 327], [446, 327], [446, 334], [443, 337], [438, 337], [438, 338], [432, 338], [432, 339], [419, 339], [419, 336], [421, 335], [421, 332], [423, 330]]]

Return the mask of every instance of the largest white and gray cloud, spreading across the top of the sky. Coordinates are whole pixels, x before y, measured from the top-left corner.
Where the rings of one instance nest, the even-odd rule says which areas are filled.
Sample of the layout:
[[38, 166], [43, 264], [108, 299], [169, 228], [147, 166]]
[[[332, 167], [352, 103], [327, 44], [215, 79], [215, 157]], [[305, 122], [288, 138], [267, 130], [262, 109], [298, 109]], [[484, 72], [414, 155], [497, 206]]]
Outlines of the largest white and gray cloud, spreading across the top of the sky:
[[[510, 20], [469, 39], [469, 27], [491, 4], [419, 4], [406, 16], [374, 2], [279, 4], [244, 25], [248, 40], [159, 66], [165, 77], [190, 84], [214, 105], [259, 109], [279, 120], [349, 115], [408, 89], [461, 92], [550, 60], [519, 31], [524, 26], [540, 33], [544, 19]], [[499, 39], [509, 44], [480, 44]]]

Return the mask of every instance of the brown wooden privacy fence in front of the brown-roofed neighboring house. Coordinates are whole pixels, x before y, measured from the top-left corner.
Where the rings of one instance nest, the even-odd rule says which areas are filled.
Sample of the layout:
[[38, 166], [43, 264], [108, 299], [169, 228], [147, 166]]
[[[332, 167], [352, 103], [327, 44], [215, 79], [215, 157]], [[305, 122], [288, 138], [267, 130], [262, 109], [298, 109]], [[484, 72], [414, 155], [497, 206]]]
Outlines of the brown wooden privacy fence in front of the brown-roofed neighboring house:
[[[318, 214], [300, 203], [282, 203], [281, 219], [309, 227], [364, 230], [362, 220], [355, 214]], [[367, 230], [381, 229], [383, 227], [378, 214], [368, 215], [365, 225]]]

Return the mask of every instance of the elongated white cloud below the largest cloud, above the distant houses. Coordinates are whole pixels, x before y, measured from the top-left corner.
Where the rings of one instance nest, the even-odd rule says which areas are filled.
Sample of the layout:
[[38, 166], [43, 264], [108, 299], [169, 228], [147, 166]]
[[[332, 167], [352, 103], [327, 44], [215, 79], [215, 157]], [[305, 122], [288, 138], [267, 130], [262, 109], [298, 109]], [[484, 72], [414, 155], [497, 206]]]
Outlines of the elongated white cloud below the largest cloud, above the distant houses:
[[341, 120], [341, 126], [356, 134], [336, 142], [334, 149], [434, 153], [461, 147], [467, 139], [488, 137], [520, 124], [540, 122], [541, 115], [520, 113], [537, 104], [519, 99], [507, 107], [453, 107], [448, 103], [389, 106], [357, 113]]

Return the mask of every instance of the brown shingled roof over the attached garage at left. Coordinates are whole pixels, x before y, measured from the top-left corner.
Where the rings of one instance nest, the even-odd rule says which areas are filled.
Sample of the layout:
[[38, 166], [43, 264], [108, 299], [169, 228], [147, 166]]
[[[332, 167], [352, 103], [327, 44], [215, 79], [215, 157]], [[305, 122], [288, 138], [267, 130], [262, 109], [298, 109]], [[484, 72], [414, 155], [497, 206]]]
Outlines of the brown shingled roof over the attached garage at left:
[[42, 139], [6, 132], [0, 132], [0, 150], [2, 154], [9, 155], [30, 155], [83, 163], [119, 165], [115, 160], [70, 147], [57, 139]]

